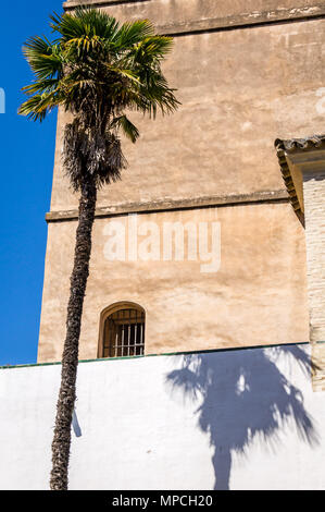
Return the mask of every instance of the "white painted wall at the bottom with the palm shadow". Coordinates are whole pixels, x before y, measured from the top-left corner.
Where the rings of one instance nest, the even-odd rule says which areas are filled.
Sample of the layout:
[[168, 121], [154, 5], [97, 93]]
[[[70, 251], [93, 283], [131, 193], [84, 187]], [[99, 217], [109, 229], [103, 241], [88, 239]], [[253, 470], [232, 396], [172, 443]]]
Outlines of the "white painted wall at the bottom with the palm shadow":
[[[0, 370], [1, 489], [48, 488], [60, 369]], [[71, 489], [325, 489], [307, 345], [82, 363], [77, 394]]]

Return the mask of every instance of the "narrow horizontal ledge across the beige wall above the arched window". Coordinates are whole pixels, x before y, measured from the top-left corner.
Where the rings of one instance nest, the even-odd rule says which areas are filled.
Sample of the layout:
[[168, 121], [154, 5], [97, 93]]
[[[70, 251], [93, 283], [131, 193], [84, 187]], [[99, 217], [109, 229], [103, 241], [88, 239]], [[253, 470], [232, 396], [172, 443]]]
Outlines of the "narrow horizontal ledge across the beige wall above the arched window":
[[[252, 194], [234, 194], [223, 196], [209, 196], [190, 199], [166, 199], [148, 203], [129, 203], [116, 206], [99, 207], [96, 209], [96, 218], [115, 217], [132, 214], [153, 214], [170, 210], [186, 210], [198, 208], [227, 207], [235, 205], [259, 204], [270, 202], [288, 202], [286, 191], [255, 192]], [[78, 218], [78, 210], [49, 211], [46, 215], [47, 222], [68, 221]]]

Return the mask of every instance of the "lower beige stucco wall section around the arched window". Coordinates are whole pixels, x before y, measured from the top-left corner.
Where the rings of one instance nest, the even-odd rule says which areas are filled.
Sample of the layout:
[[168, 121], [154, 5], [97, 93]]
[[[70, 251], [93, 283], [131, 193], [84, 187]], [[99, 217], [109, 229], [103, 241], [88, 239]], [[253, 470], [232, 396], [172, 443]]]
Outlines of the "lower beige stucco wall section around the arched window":
[[[111, 220], [97, 219], [83, 316], [80, 358], [97, 357], [100, 313], [130, 301], [146, 309], [146, 353], [307, 341], [302, 227], [289, 204], [260, 204], [137, 217], [153, 221], [220, 222], [221, 266], [197, 261], [110, 261]], [[286, 219], [286, 222], [283, 220]], [[76, 222], [49, 224], [39, 362], [61, 358]], [[139, 242], [145, 237], [139, 236]]]

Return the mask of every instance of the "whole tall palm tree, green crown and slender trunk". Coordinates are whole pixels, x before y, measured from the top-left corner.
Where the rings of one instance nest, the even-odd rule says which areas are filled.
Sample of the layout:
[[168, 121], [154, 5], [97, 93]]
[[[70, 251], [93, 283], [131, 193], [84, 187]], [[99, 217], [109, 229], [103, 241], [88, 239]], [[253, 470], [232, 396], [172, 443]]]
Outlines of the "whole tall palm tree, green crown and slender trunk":
[[52, 490], [64, 490], [97, 191], [118, 180], [126, 167], [120, 131], [133, 143], [139, 136], [126, 112], [154, 118], [157, 111], [175, 111], [178, 101], [161, 70], [172, 39], [155, 35], [149, 21], [120, 24], [85, 8], [50, 17], [58, 38], [36, 36], [24, 46], [35, 80], [23, 88], [28, 99], [20, 113], [42, 121], [61, 106], [73, 114], [64, 132], [63, 163], [80, 198], [50, 479]]

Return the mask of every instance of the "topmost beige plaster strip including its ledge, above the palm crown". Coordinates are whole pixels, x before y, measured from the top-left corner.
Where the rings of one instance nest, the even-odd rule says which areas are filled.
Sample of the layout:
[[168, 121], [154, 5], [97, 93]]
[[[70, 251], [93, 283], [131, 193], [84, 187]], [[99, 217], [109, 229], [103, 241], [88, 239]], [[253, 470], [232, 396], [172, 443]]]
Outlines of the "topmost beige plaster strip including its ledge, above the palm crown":
[[325, 13], [316, 0], [71, 0], [65, 9], [80, 3], [100, 7], [125, 21], [148, 17], [165, 34], [179, 34], [213, 28], [232, 28], [255, 23], [270, 23], [317, 16]]

